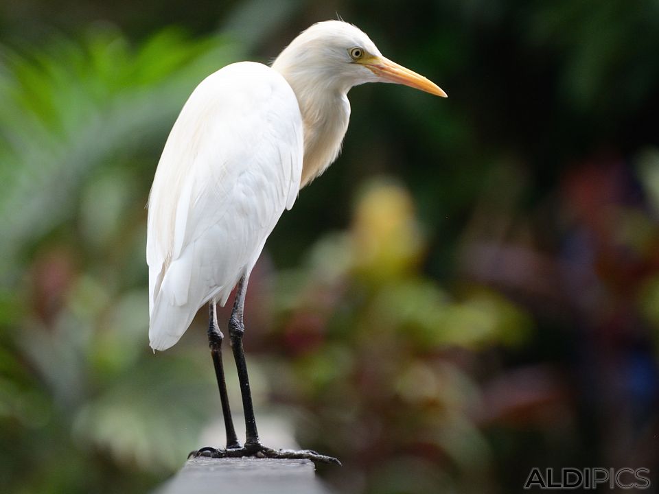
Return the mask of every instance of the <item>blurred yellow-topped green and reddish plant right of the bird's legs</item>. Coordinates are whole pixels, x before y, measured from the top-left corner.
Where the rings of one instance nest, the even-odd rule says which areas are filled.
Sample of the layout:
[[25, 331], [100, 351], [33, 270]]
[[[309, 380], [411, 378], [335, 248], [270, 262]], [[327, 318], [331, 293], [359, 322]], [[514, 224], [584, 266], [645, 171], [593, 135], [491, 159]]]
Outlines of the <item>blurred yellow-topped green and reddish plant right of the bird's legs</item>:
[[[365, 491], [481, 491], [492, 462], [474, 423], [481, 390], [451, 355], [523, 344], [533, 322], [485, 287], [456, 300], [429, 279], [420, 230], [408, 192], [375, 180], [349, 231], [321, 239], [279, 279], [274, 340], [292, 374], [273, 385], [297, 406], [313, 403], [305, 443], [360, 464]], [[400, 490], [411, 471], [423, 475]]]

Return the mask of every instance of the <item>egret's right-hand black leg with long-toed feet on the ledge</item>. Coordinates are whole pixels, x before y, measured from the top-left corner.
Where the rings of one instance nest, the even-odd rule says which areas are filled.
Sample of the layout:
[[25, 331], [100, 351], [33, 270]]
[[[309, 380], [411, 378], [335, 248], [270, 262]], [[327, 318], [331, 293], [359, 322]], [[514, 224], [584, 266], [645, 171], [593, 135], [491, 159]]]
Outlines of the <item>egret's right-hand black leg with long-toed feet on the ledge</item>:
[[336, 458], [321, 455], [310, 449], [294, 451], [292, 449], [272, 449], [261, 444], [259, 432], [256, 428], [256, 419], [254, 416], [254, 407], [252, 404], [252, 394], [249, 388], [249, 378], [247, 375], [247, 364], [245, 362], [245, 352], [242, 346], [242, 336], [245, 333], [243, 323], [243, 309], [245, 306], [245, 294], [247, 292], [247, 277], [240, 279], [238, 288], [235, 292], [235, 301], [233, 302], [233, 311], [229, 319], [229, 338], [231, 339], [231, 349], [233, 349], [233, 358], [235, 366], [238, 368], [238, 381], [240, 381], [240, 392], [242, 394], [242, 406], [245, 414], [246, 441], [244, 447], [227, 449], [203, 448], [193, 451], [188, 458], [205, 456], [210, 458], [240, 458], [242, 456], [255, 456], [257, 458], [293, 458], [307, 459], [323, 463], [341, 464]]

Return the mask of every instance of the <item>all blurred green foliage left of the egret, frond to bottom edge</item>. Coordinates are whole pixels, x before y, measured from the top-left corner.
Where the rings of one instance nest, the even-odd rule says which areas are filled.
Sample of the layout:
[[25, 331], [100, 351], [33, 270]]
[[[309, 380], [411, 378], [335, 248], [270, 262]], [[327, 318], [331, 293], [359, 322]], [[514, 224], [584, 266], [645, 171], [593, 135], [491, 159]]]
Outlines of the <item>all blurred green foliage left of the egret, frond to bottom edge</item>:
[[106, 29], [1, 53], [0, 484], [143, 491], [198, 446], [213, 403], [205, 360], [148, 350], [152, 155], [238, 50]]

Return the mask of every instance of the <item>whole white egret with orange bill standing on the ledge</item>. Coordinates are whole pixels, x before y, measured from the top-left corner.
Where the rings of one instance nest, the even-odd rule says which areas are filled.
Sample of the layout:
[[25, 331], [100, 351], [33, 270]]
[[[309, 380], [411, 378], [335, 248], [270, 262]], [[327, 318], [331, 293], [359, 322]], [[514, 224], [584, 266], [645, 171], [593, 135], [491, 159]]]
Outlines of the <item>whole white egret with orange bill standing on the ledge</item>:
[[[336, 159], [347, 130], [347, 93], [394, 82], [446, 97], [428, 79], [387, 60], [354, 25], [326, 21], [299, 34], [272, 67], [228, 65], [183, 106], [158, 163], [148, 205], [150, 345], [178, 342], [209, 303], [209, 345], [220, 388], [227, 447], [196, 456], [269, 456], [336, 461], [314, 451], [264, 447], [254, 418], [242, 348], [249, 274], [299, 189]], [[242, 391], [246, 443], [233, 430], [222, 370], [216, 304], [238, 285], [229, 336]]]

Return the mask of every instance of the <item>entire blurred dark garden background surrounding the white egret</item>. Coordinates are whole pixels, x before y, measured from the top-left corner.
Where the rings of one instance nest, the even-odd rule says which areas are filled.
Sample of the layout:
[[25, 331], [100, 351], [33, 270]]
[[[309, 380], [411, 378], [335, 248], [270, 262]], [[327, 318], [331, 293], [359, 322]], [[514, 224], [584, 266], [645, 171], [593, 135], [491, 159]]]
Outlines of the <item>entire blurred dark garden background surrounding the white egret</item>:
[[656, 474], [656, 0], [10, 0], [3, 492], [144, 493], [223, 445], [205, 310], [148, 346], [148, 191], [205, 75], [337, 14], [450, 97], [353, 89], [343, 155], [268, 240], [246, 305], [264, 442], [340, 458], [319, 468], [340, 493]]

